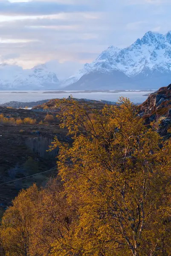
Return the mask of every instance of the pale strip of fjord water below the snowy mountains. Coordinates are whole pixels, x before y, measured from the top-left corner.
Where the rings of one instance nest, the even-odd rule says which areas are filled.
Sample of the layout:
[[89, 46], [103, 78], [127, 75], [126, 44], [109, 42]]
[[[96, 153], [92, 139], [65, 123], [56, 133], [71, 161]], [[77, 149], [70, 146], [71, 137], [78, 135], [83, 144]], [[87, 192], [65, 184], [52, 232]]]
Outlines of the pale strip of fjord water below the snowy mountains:
[[43, 93], [46, 91], [0, 91], [0, 104], [17, 101], [17, 102], [36, 102], [43, 99], [62, 99], [67, 98], [72, 94], [77, 99], [94, 99], [94, 100], [107, 100], [116, 102], [119, 97], [127, 97], [131, 102], [138, 104], [144, 102], [148, 96], [143, 96], [153, 91], [124, 91], [117, 93], [103, 93], [103, 92], [92, 92], [92, 93]]

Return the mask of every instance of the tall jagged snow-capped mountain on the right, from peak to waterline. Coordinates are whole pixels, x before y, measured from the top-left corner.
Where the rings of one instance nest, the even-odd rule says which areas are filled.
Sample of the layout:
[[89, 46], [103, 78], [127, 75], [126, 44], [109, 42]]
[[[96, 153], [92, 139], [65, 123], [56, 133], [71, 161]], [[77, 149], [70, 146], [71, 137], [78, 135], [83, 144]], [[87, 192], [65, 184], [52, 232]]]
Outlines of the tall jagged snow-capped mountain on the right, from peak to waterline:
[[[103, 81], [98, 79], [99, 73]], [[75, 76], [67, 79], [65, 85], [70, 84], [67, 87], [70, 90], [157, 89], [170, 82], [171, 32], [162, 35], [149, 31], [124, 49], [110, 46], [95, 61], [85, 64]]]

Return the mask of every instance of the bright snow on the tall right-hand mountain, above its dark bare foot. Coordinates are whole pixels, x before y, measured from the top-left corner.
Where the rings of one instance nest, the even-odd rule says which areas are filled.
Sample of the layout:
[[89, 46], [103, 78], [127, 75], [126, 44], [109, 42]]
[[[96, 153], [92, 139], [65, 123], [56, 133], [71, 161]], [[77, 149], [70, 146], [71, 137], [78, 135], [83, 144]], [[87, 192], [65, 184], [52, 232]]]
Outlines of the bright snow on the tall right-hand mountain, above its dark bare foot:
[[[124, 49], [111, 46], [102, 52], [95, 61], [85, 64], [84, 68], [75, 76], [67, 79], [64, 85], [75, 83], [82, 76], [92, 72], [111, 73], [113, 70], [123, 72], [132, 81], [136, 81], [135, 86], [141, 84], [141, 89], [143, 83], [147, 87], [154, 87], [153, 84], [150, 84], [153, 83], [153, 78], [156, 83], [157, 78], [160, 77], [159, 84], [155, 84], [156, 87], [160, 86], [162, 78], [164, 83], [170, 82], [171, 32], [162, 35], [149, 31], [141, 39], [138, 38], [132, 45]], [[84, 87], [82, 81], [81, 87]], [[104, 84], [104, 89], [107, 89], [107, 84]]]

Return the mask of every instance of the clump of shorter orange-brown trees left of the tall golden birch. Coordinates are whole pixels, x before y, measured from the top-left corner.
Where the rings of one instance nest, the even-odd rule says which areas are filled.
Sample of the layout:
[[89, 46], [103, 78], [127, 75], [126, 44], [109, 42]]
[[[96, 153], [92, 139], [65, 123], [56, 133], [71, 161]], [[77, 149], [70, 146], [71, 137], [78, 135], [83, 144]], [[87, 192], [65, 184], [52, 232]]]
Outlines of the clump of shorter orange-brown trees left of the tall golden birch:
[[45, 188], [34, 185], [22, 190], [3, 216], [0, 252], [2, 248], [4, 256], [49, 256], [54, 255], [55, 241], [63, 251], [73, 234], [76, 213], [58, 178]]

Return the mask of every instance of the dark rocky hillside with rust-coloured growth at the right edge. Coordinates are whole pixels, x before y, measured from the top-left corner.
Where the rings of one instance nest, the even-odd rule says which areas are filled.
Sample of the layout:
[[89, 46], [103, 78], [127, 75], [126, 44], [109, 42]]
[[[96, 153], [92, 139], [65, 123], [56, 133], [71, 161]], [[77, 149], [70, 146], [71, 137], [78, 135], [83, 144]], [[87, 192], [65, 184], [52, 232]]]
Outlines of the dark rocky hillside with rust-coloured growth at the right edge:
[[157, 121], [159, 133], [162, 136], [167, 135], [168, 129], [171, 128], [171, 84], [151, 93], [139, 108], [146, 124]]

